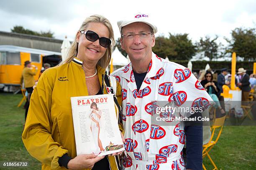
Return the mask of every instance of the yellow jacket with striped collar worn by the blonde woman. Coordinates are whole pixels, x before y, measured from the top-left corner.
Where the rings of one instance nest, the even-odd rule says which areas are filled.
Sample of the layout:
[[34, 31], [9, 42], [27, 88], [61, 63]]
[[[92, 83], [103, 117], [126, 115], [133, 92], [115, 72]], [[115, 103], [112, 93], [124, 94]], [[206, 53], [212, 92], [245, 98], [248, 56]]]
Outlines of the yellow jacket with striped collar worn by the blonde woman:
[[[77, 62], [78, 61], [78, 62]], [[105, 70], [97, 65], [100, 84]], [[104, 94], [107, 94], [104, 89]], [[66, 169], [60, 167], [59, 158], [68, 153], [77, 156], [70, 97], [88, 95], [82, 61], [52, 67], [44, 71], [34, 89], [25, 129], [23, 143], [28, 152], [42, 163], [43, 170]], [[116, 97], [121, 105], [121, 86], [117, 82]], [[117, 117], [118, 111], [116, 110]], [[122, 125], [119, 125], [123, 131]], [[111, 170], [117, 170], [118, 160], [109, 156]]]

